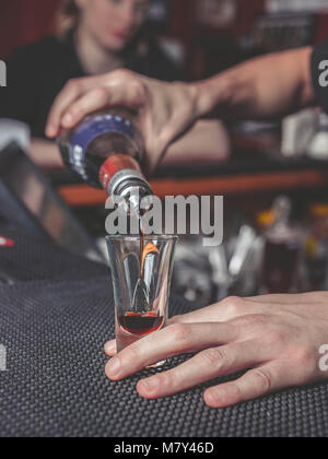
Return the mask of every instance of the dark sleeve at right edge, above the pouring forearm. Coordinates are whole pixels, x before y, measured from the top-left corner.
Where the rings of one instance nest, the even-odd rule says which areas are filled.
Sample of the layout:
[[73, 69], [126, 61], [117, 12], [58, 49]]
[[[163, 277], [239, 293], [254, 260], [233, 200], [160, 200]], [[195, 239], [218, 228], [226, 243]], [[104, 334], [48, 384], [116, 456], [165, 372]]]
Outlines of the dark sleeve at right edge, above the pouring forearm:
[[328, 114], [328, 38], [315, 47], [311, 70], [317, 102]]

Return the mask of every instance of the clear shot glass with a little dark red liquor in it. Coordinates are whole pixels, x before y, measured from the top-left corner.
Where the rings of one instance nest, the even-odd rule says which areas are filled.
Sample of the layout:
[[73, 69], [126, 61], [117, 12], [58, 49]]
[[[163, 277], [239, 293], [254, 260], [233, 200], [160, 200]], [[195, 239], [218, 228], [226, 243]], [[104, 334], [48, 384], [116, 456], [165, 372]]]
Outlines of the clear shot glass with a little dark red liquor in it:
[[108, 236], [106, 242], [120, 352], [166, 325], [177, 237]]

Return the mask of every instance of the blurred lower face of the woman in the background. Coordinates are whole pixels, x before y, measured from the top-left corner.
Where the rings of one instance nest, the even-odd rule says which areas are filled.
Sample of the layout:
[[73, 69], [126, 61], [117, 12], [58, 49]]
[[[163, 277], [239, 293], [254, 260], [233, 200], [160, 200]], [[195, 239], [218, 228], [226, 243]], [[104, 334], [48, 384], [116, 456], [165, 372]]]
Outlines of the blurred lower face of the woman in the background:
[[98, 44], [121, 51], [143, 24], [150, 0], [77, 0], [82, 25]]

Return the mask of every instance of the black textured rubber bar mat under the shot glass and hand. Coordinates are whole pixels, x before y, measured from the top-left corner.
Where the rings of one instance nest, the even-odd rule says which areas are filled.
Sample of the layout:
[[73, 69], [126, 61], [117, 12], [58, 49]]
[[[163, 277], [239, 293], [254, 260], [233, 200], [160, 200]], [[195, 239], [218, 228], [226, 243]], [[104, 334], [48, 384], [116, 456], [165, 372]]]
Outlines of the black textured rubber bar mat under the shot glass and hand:
[[[38, 260], [31, 272], [40, 275], [0, 285], [0, 344], [7, 348], [7, 372], [0, 372], [1, 437], [327, 436], [328, 385], [214, 410], [202, 400], [204, 387], [149, 401], [136, 391], [140, 375], [107, 380], [103, 345], [114, 337], [107, 269], [44, 243], [32, 240], [26, 248], [28, 240], [15, 233], [7, 236], [19, 240], [11, 252], [5, 249], [16, 273], [24, 278], [25, 266], [28, 278], [31, 256]], [[50, 260], [51, 268], [46, 267]], [[190, 307], [172, 298], [172, 314]], [[171, 360], [166, 368], [183, 358]]]

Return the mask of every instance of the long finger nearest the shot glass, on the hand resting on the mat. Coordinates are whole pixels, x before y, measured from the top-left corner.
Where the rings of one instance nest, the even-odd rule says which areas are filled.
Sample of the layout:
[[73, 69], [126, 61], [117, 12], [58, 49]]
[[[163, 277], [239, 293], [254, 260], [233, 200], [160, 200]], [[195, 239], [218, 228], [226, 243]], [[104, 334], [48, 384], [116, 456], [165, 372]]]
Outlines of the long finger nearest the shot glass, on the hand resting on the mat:
[[224, 323], [173, 325], [117, 354], [106, 365], [106, 375], [119, 380], [174, 355], [233, 342], [237, 331], [233, 325]]

